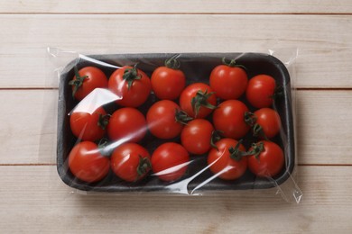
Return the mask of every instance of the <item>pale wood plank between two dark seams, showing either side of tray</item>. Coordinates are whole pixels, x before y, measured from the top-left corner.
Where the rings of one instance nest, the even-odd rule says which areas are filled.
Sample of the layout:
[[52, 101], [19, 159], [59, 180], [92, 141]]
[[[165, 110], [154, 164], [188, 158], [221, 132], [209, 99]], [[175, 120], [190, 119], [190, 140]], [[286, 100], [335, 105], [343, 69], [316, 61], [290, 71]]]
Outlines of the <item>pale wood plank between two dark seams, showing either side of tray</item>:
[[[1, 164], [55, 163], [57, 90], [2, 90]], [[300, 164], [352, 164], [351, 91], [297, 91]]]

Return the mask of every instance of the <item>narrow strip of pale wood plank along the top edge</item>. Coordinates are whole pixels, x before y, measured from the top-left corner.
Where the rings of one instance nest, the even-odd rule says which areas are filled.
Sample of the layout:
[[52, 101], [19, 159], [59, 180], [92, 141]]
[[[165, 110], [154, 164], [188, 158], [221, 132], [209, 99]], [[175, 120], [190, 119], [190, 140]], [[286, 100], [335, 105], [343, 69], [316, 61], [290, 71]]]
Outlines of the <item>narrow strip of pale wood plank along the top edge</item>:
[[348, 14], [352, 13], [352, 4], [348, 0], [331, 1], [229, 1], [229, 0], [120, 0], [94, 3], [87, 1], [45, 1], [5, 0], [0, 5], [0, 13], [222, 13], [222, 14]]

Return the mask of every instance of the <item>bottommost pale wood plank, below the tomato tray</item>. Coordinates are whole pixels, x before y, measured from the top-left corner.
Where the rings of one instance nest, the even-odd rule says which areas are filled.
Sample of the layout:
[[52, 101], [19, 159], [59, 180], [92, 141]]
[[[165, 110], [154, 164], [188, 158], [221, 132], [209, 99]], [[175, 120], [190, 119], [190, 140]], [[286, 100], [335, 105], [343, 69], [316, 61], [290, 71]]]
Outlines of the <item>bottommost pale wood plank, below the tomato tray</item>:
[[[204, 196], [80, 195], [54, 166], [0, 166], [4, 232], [348, 233], [350, 166], [300, 166], [299, 205], [273, 191]], [[21, 220], [21, 221], [19, 221]]]

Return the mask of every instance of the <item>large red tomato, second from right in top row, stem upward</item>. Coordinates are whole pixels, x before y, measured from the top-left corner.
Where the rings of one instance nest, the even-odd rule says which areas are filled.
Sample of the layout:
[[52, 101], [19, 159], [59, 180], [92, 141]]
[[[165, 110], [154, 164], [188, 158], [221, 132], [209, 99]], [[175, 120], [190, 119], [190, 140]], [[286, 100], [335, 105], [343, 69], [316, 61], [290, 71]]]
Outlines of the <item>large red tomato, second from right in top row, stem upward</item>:
[[245, 88], [248, 83], [248, 78], [245, 70], [236, 66], [235, 60], [230, 63], [215, 67], [210, 74], [210, 87], [215, 91], [221, 99], [237, 99], [242, 94], [245, 94]]

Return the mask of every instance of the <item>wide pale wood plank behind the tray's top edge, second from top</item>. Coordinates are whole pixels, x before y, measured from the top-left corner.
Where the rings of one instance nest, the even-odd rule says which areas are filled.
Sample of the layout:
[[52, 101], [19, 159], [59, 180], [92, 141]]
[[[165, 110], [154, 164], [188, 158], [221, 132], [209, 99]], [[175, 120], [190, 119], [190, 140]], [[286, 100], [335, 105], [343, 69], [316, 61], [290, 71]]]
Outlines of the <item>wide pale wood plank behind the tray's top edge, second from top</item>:
[[352, 87], [347, 15], [0, 15], [0, 21], [0, 87], [55, 86], [47, 78], [46, 46], [84, 54], [273, 49], [279, 58], [282, 48], [299, 48], [299, 87]]

